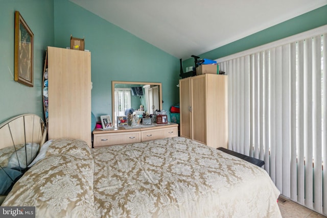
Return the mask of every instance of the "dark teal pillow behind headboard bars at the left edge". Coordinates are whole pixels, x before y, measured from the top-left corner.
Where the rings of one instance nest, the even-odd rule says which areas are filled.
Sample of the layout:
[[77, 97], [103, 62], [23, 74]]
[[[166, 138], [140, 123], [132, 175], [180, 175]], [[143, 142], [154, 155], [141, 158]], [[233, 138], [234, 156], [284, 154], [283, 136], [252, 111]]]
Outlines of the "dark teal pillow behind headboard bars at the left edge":
[[[5, 172], [6, 171], [6, 172]], [[7, 167], [0, 168], [0, 195], [7, 195], [15, 179], [21, 175], [20, 171]]]

